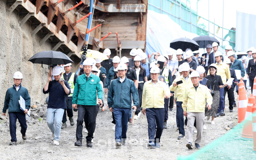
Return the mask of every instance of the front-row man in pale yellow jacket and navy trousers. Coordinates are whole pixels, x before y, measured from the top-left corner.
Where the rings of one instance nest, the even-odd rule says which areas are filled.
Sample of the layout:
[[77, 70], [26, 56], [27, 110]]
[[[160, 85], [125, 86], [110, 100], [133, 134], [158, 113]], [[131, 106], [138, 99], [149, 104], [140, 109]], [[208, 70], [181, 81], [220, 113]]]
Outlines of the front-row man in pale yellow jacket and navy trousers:
[[151, 68], [151, 81], [144, 83], [142, 93], [141, 107], [143, 114], [147, 116], [149, 135], [147, 147], [149, 148], [160, 147], [159, 142], [164, 129], [164, 98], [170, 97], [170, 90], [165, 82], [158, 79], [159, 73], [160, 69], [158, 67]]

